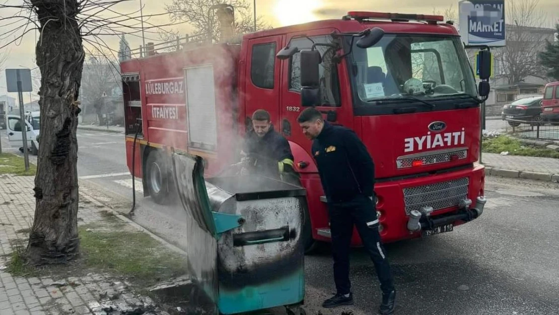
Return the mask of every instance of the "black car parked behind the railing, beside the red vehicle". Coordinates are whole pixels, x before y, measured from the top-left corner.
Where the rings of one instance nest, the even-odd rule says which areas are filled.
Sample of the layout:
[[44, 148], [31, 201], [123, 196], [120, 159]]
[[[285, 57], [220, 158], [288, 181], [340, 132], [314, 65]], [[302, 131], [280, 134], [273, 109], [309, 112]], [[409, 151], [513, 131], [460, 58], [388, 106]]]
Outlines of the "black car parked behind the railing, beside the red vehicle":
[[501, 119], [508, 120], [509, 125], [518, 126], [520, 121], [526, 121], [527, 124], [542, 124], [542, 98], [543, 96], [532, 96], [519, 98], [503, 106]]

